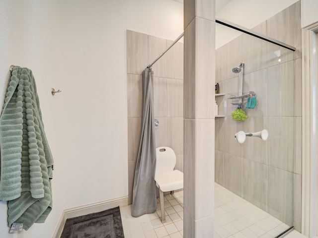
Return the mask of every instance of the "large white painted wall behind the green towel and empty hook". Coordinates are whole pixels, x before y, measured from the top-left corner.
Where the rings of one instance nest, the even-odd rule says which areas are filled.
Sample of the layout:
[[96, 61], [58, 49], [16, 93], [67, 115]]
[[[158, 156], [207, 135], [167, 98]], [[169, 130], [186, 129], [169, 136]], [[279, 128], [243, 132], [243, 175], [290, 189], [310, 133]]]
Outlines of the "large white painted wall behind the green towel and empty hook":
[[[128, 195], [126, 29], [174, 40], [183, 31], [183, 4], [0, 4], [1, 107], [10, 64], [32, 69], [55, 160], [54, 204], [47, 221], [8, 234], [6, 202], [1, 201], [0, 237], [49, 238], [64, 209]], [[52, 97], [52, 87], [62, 93]]]

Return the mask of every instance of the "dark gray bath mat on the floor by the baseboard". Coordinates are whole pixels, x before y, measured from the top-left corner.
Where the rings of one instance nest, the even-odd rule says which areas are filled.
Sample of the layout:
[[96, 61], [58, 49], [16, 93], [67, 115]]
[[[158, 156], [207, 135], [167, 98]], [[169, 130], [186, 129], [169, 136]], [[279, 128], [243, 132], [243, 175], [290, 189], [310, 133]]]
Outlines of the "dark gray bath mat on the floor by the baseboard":
[[119, 207], [67, 219], [61, 238], [124, 238]]

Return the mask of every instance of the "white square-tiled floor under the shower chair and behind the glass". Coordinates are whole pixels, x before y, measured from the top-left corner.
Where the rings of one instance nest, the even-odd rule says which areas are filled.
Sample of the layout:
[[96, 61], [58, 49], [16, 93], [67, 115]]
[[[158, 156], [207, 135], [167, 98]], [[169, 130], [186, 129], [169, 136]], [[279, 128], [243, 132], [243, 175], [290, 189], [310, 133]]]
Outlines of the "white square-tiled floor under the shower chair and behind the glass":
[[[214, 238], [274, 238], [288, 226], [258, 207], [215, 183]], [[131, 216], [131, 205], [120, 207], [125, 238], [182, 238], [183, 191], [164, 197], [166, 222], [157, 211], [138, 218]], [[296, 231], [285, 238], [305, 238]]]

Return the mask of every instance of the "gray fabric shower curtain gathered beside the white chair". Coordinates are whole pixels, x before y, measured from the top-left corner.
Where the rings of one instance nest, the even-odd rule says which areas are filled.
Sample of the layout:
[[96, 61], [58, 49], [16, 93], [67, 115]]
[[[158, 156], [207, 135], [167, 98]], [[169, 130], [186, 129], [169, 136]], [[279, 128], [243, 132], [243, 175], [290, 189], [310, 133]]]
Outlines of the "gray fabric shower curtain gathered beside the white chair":
[[143, 71], [142, 132], [135, 170], [133, 205], [134, 217], [156, 211], [156, 139], [154, 125], [154, 72]]

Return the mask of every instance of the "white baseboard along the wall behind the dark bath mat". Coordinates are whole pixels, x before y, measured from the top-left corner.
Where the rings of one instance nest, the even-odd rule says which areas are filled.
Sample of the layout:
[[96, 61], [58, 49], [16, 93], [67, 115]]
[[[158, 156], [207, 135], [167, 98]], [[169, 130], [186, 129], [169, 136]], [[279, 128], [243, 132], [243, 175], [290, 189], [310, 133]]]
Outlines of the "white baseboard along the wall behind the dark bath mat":
[[61, 237], [64, 224], [66, 222], [66, 219], [68, 218], [83, 216], [90, 213], [101, 212], [110, 208], [114, 208], [118, 206], [127, 206], [127, 205], [128, 205], [128, 196], [124, 196], [124, 197], [119, 197], [119, 198], [115, 198], [115, 199], [111, 199], [107, 201], [95, 202], [95, 203], [87, 204], [84, 206], [66, 209], [62, 213], [58, 226], [55, 229], [55, 232], [53, 234], [53, 238]]

